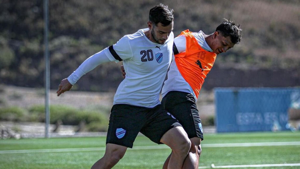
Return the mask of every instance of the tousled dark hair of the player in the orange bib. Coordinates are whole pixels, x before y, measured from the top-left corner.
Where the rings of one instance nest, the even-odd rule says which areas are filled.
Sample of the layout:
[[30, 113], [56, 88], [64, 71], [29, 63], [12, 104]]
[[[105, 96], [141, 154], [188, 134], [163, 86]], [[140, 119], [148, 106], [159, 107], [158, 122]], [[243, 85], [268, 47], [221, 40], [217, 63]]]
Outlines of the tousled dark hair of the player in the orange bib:
[[233, 20], [227, 20], [221, 23], [216, 31], [221, 32], [224, 37], [230, 36], [230, 40], [234, 44], [238, 44], [242, 39], [241, 24], [235, 25]]

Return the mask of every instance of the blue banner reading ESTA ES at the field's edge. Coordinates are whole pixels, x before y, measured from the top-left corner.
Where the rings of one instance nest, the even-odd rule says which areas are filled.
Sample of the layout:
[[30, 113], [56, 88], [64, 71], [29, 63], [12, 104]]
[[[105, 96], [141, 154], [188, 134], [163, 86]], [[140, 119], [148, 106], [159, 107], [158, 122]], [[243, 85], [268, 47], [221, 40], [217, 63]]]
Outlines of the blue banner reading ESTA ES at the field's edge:
[[217, 132], [288, 130], [300, 88], [215, 88]]

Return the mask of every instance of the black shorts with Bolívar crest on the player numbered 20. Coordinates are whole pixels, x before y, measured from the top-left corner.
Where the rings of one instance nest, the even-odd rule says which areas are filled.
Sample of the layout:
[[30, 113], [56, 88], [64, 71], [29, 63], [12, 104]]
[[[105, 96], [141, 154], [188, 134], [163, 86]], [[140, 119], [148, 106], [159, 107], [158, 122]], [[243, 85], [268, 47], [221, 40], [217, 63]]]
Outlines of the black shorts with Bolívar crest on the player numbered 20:
[[106, 143], [132, 148], [141, 132], [155, 143], [171, 128], [182, 126], [161, 105], [154, 108], [115, 104], [111, 109]]

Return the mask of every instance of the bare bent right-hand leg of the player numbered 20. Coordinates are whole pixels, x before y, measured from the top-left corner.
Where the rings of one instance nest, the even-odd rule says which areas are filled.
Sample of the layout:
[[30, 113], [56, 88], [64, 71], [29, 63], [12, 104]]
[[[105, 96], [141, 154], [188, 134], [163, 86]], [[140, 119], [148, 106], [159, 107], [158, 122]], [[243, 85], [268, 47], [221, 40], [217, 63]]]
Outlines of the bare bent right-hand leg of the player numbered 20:
[[175, 127], [161, 137], [161, 143], [172, 149], [168, 169], [181, 169], [190, 150], [190, 140], [182, 127]]

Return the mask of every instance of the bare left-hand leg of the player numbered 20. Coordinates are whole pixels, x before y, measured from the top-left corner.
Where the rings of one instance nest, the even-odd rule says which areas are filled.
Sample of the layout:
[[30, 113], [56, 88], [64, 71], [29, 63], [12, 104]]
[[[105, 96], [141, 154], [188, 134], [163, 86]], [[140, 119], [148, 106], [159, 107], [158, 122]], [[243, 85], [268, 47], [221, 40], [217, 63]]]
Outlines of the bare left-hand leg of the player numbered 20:
[[127, 147], [117, 144], [106, 144], [104, 156], [95, 162], [91, 169], [110, 169], [125, 155]]

